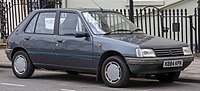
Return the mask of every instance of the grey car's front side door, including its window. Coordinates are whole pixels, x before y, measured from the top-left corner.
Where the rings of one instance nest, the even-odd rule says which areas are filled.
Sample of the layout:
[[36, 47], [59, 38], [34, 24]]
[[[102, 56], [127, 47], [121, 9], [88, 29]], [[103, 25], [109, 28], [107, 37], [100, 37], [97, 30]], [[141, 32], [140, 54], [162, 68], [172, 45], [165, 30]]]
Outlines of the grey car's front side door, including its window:
[[94, 68], [92, 37], [75, 37], [75, 33], [88, 33], [76, 13], [60, 13], [58, 35], [56, 36], [57, 64], [64, 67]]

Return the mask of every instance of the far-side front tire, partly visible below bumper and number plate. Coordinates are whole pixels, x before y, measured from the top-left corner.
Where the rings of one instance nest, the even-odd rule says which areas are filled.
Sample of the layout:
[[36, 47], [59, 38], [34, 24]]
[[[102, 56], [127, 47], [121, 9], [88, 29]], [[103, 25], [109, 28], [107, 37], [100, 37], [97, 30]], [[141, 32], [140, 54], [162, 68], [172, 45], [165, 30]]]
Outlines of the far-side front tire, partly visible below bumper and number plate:
[[157, 74], [156, 79], [158, 79], [160, 82], [172, 83], [178, 80], [179, 76], [180, 72], [171, 72], [166, 74]]

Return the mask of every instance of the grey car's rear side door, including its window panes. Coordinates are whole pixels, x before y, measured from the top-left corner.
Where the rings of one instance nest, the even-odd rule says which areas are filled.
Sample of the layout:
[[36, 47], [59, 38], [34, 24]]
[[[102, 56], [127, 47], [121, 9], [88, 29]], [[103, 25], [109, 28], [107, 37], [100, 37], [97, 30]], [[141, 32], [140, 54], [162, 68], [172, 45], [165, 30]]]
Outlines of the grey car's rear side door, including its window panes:
[[28, 50], [34, 64], [44, 65], [54, 63], [55, 17], [56, 12], [38, 13], [32, 19], [33, 22], [31, 21], [25, 30], [24, 47]]

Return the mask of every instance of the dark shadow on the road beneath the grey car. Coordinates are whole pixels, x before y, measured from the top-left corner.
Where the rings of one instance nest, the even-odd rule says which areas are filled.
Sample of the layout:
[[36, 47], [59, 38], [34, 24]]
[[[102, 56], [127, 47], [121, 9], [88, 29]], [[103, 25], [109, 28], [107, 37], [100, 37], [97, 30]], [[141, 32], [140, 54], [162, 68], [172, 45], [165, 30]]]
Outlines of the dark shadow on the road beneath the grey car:
[[[88, 85], [105, 86], [103, 82], [96, 82], [95, 75], [88, 75], [88, 74], [80, 74], [80, 75], [69, 75], [67, 73], [39, 74], [39, 75], [34, 75], [31, 79], [66, 81], [66, 82], [83, 83], [83, 84], [88, 84]], [[181, 84], [177, 82], [160, 83], [159, 81], [152, 80], [152, 79], [131, 78], [126, 88], [176, 87], [176, 86], [184, 86], [184, 85], [185, 84]]]

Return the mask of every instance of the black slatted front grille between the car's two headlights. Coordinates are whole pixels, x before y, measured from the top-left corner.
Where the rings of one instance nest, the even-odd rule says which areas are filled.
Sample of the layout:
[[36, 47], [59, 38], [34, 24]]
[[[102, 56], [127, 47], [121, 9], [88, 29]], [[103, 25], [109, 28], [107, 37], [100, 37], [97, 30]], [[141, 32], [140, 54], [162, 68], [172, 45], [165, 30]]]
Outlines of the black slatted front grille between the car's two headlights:
[[182, 48], [154, 49], [157, 57], [183, 56]]

